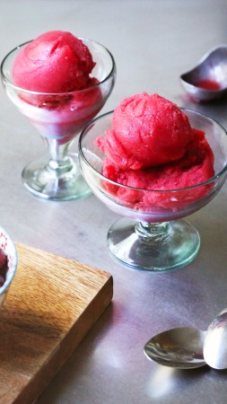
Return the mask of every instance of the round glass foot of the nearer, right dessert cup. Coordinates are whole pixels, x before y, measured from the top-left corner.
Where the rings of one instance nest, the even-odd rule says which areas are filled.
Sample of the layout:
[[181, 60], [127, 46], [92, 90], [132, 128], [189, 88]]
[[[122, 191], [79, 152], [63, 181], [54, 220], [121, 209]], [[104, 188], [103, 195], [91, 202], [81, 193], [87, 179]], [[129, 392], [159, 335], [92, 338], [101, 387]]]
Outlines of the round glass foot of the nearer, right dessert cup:
[[108, 245], [124, 264], [158, 272], [188, 265], [196, 257], [200, 237], [184, 219], [144, 224], [122, 218], [110, 227]]

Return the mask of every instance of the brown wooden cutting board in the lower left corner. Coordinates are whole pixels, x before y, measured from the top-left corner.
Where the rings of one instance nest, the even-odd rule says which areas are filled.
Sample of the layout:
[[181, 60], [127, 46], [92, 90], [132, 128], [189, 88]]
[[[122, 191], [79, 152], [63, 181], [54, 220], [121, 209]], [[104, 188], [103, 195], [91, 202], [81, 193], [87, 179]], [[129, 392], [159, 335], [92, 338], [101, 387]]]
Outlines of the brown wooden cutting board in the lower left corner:
[[31, 404], [109, 305], [109, 273], [20, 243], [0, 309], [0, 403]]

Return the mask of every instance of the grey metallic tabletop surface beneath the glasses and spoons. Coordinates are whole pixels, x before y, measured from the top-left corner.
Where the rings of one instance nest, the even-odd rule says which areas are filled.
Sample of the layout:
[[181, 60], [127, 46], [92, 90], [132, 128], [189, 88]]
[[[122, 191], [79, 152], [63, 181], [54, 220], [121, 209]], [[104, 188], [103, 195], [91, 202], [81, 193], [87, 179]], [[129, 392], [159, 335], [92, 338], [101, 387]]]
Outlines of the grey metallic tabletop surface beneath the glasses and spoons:
[[[227, 43], [226, 0], [1, 0], [0, 57], [48, 30], [103, 43], [118, 66], [103, 111], [135, 92], [158, 92], [227, 127], [227, 101], [188, 101], [179, 75], [206, 51]], [[144, 343], [179, 326], [206, 329], [227, 305], [227, 187], [189, 217], [201, 235], [195, 261], [181, 270], [131, 270], [109, 254], [117, 216], [95, 198], [42, 201], [23, 188], [21, 172], [44, 144], [0, 90], [0, 224], [18, 242], [105, 269], [113, 303], [39, 399], [39, 404], [225, 404], [226, 372], [174, 371], [148, 361]]]

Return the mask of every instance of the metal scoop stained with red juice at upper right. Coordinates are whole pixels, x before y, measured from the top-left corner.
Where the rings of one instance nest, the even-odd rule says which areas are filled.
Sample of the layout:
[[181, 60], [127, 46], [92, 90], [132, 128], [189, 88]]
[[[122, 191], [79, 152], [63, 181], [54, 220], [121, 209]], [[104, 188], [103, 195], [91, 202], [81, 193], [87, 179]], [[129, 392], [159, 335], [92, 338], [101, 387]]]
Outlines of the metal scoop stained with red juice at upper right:
[[180, 75], [185, 90], [198, 101], [212, 101], [227, 93], [227, 46], [207, 52], [197, 66]]

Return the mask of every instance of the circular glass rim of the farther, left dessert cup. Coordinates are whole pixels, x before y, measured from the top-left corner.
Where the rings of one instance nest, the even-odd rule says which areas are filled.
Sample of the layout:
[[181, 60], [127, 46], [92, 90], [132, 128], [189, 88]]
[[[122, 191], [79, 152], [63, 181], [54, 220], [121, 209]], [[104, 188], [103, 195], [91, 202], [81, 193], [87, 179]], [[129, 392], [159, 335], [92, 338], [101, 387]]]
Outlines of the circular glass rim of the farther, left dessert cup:
[[[82, 40], [83, 42], [93, 42], [97, 45], [99, 45], [101, 48], [105, 49], [106, 52], [109, 54], [109, 57], [111, 59], [112, 62], [112, 67], [111, 70], [109, 72], [109, 75], [107, 75], [103, 80], [101, 80], [99, 83], [92, 85], [91, 87], [88, 88], [83, 88], [82, 90], [76, 90], [76, 93], [79, 92], [87, 92], [89, 90], [92, 90], [93, 88], [97, 88], [100, 87], [100, 85], [102, 83], [105, 83], [109, 80], [109, 77], [111, 75], [114, 75], [116, 72], [116, 63], [115, 63], [115, 59], [113, 57], [113, 55], [111, 54], [111, 52], [109, 51], [108, 48], [106, 48], [104, 45], [102, 45], [100, 42], [97, 42], [96, 40], [90, 40], [89, 38], [83, 38], [83, 37], [78, 37], [79, 40]], [[5, 55], [4, 59], [2, 60], [1, 66], [0, 66], [0, 71], [1, 71], [1, 75], [2, 78], [4, 80], [5, 83], [7, 83], [8, 85], [10, 85], [11, 87], [13, 87], [15, 90], [20, 91], [20, 92], [28, 92], [30, 94], [43, 94], [43, 95], [69, 95], [69, 94], [74, 94], [75, 92], [34, 92], [31, 90], [26, 90], [25, 88], [19, 87], [18, 85], [13, 84], [13, 82], [11, 80], [9, 80], [5, 75], [4, 75], [4, 62], [7, 59], [7, 57], [9, 57], [16, 49], [22, 48], [24, 45], [28, 45], [29, 43], [31, 43], [32, 40], [27, 40], [26, 42], [23, 42], [22, 44], [18, 45], [17, 47], [13, 48], [12, 50], [10, 50], [7, 55]]]

